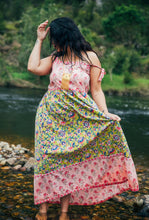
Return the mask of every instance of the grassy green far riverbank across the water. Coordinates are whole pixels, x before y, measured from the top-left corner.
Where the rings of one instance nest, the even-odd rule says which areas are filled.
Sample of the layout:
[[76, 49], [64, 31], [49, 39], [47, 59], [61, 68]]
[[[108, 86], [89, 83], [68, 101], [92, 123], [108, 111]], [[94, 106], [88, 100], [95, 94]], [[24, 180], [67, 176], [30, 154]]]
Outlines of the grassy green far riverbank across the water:
[[[46, 90], [49, 83], [49, 76], [31, 77], [31, 73], [13, 73], [9, 80], [0, 80], [1, 87], [17, 87]], [[149, 79], [145, 77], [133, 77], [133, 80], [124, 83], [123, 75], [106, 74], [102, 81], [102, 88], [105, 94], [118, 96], [149, 96]]]

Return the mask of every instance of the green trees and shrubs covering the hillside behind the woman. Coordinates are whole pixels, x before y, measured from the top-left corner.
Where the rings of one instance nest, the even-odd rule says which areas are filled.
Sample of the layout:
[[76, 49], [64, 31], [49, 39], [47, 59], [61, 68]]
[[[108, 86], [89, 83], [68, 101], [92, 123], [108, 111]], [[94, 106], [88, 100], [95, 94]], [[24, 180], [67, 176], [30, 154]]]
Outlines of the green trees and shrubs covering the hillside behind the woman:
[[[44, 20], [49, 19], [50, 23], [62, 16], [72, 18], [85, 39], [101, 55], [106, 77], [112, 83], [118, 79], [117, 83], [121, 82], [119, 87], [122, 84], [129, 87], [135, 84], [134, 75], [142, 74], [147, 78], [148, 0], [102, 0], [100, 6], [95, 0], [1, 0], [0, 49], [3, 54], [0, 56], [0, 77], [6, 81], [18, 78], [36, 83], [38, 80], [38, 83], [47, 85], [47, 76], [26, 73], [27, 62], [36, 40], [37, 26]], [[51, 52], [46, 39], [41, 57]]]

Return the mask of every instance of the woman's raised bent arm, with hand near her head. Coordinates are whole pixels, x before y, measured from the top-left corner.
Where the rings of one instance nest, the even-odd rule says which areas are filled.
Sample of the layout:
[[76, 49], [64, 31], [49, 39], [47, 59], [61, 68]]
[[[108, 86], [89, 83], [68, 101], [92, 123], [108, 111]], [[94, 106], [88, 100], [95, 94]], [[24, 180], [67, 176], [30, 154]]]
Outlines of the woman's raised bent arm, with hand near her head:
[[48, 20], [38, 26], [37, 40], [30, 54], [27, 66], [28, 71], [39, 76], [49, 74], [52, 68], [51, 56], [40, 59], [42, 43], [49, 31], [49, 27], [46, 29], [47, 24]]

